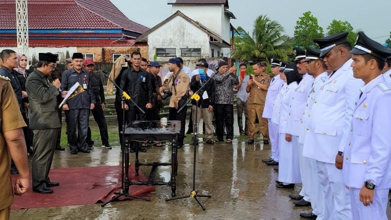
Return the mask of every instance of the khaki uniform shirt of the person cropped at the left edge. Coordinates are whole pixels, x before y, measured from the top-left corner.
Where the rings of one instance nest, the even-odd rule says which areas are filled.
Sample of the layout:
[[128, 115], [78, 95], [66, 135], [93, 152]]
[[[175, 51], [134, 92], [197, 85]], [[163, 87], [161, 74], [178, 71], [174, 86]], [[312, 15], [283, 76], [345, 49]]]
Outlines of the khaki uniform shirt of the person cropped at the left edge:
[[25, 127], [19, 103], [8, 79], [0, 77], [0, 210], [13, 202], [11, 155], [5, 145], [4, 132]]

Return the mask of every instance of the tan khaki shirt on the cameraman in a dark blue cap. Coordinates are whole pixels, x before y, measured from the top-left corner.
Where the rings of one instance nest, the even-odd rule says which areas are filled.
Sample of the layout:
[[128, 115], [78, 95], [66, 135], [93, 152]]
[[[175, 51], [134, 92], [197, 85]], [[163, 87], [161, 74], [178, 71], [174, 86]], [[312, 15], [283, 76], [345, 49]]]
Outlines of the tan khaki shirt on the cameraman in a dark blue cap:
[[[173, 93], [173, 95], [170, 98], [170, 105], [169, 107], [175, 108], [174, 100], [179, 102], [179, 100], [186, 94], [186, 92], [190, 88], [190, 79], [189, 76], [181, 70], [174, 80], [176, 73], [173, 73], [169, 80], [168, 80], [168, 90]], [[173, 86], [173, 80], [174, 80], [174, 85]], [[180, 107], [179, 107], [180, 108]]]

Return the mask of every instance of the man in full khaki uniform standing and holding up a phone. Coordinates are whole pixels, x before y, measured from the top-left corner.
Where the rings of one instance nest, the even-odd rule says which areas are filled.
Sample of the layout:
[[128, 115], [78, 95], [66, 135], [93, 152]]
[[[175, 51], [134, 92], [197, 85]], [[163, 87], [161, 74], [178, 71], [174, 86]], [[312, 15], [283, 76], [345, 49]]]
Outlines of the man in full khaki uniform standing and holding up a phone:
[[254, 143], [255, 120], [258, 117], [263, 135], [263, 144], [269, 144], [267, 120], [262, 118], [267, 88], [270, 85], [270, 76], [265, 73], [266, 63], [259, 62], [253, 65], [255, 75], [248, 81], [246, 91], [250, 93], [247, 100], [248, 114], [248, 144]]

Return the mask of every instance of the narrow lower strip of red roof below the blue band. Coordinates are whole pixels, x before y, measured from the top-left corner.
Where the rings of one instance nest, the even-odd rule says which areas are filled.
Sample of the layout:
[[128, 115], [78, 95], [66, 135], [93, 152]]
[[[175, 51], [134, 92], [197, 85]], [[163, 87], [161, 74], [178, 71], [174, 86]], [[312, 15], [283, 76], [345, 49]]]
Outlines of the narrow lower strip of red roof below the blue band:
[[[86, 46], [86, 47], [102, 47], [102, 46], [134, 46], [134, 40], [115, 41], [108, 40], [67, 40], [67, 39], [29, 39], [29, 46], [43, 47], [66, 47], [66, 46]], [[1, 39], [0, 47], [15, 47], [17, 46], [16, 39]]]

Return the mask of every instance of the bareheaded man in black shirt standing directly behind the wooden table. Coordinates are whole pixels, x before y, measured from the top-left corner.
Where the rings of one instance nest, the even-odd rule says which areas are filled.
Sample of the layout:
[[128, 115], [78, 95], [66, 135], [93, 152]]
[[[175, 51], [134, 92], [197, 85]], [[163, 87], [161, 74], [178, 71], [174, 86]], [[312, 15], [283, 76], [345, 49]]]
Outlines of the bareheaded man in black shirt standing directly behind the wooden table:
[[[149, 74], [140, 68], [141, 54], [133, 52], [130, 55], [132, 66], [121, 75], [121, 88], [126, 91], [138, 107], [146, 111], [152, 108], [152, 85]], [[127, 101], [123, 106], [127, 112], [127, 119], [131, 121], [145, 121], [146, 114], [142, 113], [132, 102]], [[146, 150], [141, 147], [141, 152]]]

